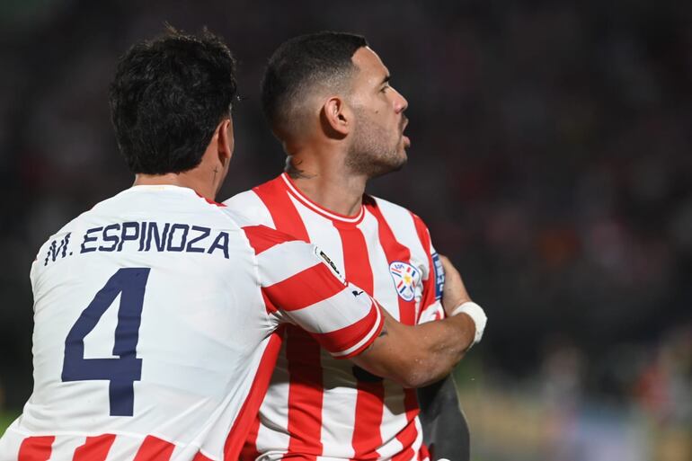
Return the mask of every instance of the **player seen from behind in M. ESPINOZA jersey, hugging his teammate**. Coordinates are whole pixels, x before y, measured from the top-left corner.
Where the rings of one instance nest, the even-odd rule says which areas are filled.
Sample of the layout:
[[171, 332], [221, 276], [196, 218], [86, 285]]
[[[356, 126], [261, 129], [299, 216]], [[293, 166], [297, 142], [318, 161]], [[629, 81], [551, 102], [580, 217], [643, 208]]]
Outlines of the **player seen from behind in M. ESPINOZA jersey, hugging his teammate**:
[[[234, 59], [208, 32], [169, 31], [121, 58], [111, 113], [136, 180], [33, 262], [34, 389], [0, 460], [235, 460], [277, 332], [300, 328], [373, 372], [397, 369], [398, 341], [425, 342], [315, 245], [213, 201], [233, 152], [234, 98]], [[444, 367], [475, 331], [468, 315], [450, 320], [430, 355]]]

